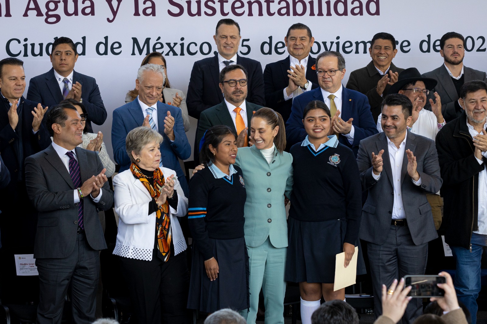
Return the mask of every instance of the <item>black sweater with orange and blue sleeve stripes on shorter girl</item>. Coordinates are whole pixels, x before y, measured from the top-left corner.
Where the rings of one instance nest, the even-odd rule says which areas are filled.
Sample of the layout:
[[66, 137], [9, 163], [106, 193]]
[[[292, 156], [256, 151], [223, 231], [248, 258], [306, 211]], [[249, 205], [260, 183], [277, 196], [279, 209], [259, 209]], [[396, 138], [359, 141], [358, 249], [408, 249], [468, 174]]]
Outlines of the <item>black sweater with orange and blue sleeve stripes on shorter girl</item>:
[[244, 237], [247, 194], [242, 170], [235, 165], [234, 168], [237, 173], [232, 175], [230, 181], [226, 178], [215, 179], [208, 166], [194, 174], [189, 181], [189, 229], [205, 260], [214, 256], [209, 238]]

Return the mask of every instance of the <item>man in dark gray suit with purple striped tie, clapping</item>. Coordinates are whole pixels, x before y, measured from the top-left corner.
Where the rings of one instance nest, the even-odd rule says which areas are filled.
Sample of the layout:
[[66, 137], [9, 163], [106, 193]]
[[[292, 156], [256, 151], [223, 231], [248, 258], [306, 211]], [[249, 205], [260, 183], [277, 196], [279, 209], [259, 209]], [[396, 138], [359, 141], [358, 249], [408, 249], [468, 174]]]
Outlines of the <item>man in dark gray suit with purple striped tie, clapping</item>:
[[55, 106], [47, 112], [47, 127], [53, 143], [25, 159], [28, 197], [39, 213], [36, 322], [61, 323], [71, 284], [74, 322], [89, 324], [95, 320], [98, 251], [107, 248], [98, 211], [112, 207], [113, 193], [98, 155], [77, 147], [83, 142], [84, 122], [76, 108]]

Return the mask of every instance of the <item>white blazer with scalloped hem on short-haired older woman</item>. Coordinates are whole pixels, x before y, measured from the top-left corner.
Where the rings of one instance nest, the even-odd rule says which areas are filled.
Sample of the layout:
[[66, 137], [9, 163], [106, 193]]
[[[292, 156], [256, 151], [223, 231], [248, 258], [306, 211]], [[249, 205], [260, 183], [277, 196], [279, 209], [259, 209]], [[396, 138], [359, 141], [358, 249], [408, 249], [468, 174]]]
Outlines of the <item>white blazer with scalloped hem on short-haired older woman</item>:
[[[164, 177], [176, 174], [168, 168], [160, 168]], [[139, 260], [152, 260], [152, 250], [155, 240], [155, 212], [149, 214], [149, 202], [152, 198], [146, 187], [132, 175], [131, 170], [125, 170], [113, 178], [113, 199], [115, 212], [119, 216], [118, 233], [113, 254]], [[169, 207], [172, 243], [174, 255], [186, 250], [186, 241], [177, 217], [186, 216], [187, 198], [176, 180], [174, 189], [178, 195], [177, 210]]]

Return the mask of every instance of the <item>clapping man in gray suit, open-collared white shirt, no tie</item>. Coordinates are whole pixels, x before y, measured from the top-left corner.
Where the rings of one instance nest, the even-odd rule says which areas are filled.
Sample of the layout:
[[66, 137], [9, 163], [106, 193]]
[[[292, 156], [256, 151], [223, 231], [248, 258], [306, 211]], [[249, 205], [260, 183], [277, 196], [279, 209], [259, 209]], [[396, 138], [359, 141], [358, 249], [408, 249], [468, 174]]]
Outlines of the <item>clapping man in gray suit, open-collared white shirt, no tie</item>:
[[[360, 142], [357, 163], [362, 190], [360, 238], [367, 241], [375, 316], [382, 313], [381, 285], [426, 270], [428, 242], [438, 237], [427, 193], [440, 190], [440, 166], [434, 141], [407, 131], [412, 103], [389, 94], [382, 103], [384, 132]], [[383, 172], [384, 171], [384, 172]], [[402, 318], [410, 324], [421, 315], [421, 299], [409, 302]]]

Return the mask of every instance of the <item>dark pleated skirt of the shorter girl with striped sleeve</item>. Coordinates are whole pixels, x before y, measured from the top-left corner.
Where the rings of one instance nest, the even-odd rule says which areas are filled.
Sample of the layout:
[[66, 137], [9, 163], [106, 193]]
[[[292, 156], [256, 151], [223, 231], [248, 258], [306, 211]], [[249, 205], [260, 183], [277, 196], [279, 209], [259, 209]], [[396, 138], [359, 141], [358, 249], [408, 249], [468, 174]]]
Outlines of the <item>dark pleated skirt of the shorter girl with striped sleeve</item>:
[[244, 237], [213, 239], [213, 255], [218, 262], [218, 278], [210, 281], [205, 260], [195, 242], [187, 308], [212, 313], [222, 308], [249, 308], [249, 263]]

